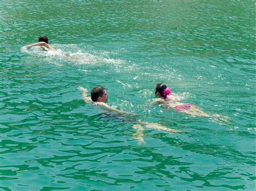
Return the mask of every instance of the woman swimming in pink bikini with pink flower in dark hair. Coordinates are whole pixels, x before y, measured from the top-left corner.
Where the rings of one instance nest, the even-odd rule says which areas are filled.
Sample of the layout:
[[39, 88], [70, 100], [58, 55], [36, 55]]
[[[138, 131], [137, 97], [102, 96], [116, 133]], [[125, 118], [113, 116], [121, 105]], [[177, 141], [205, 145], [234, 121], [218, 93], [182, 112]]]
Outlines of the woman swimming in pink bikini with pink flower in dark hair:
[[179, 98], [177, 95], [173, 94], [172, 90], [167, 88], [164, 83], [158, 83], [156, 85], [154, 94], [159, 98], [154, 99], [152, 103], [163, 103], [167, 108], [172, 108], [178, 112], [183, 112], [191, 116], [210, 117], [196, 105], [178, 102]]

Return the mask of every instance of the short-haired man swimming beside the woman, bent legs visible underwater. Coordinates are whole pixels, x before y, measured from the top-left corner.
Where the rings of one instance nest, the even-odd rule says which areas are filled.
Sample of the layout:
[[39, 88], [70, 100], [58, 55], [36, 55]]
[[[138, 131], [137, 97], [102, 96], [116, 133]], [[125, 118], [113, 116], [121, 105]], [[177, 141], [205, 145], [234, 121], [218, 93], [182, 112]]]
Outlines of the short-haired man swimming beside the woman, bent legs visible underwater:
[[[79, 86], [78, 89], [83, 92], [82, 93], [82, 98], [85, 101], [85, 103], [92, 103], [93, 105], [97, 105], [97, 106], [99, 106], [99, 107], [101, 107], [104, 110], [109, 111], [109, 112], [116, 112], [116, 113], [119, 113], [119, 114], [134, 115], [130, 112], [126, 112], [126, 111], [123, 111], [123, 110], [118, 110], [116, 108], [113, 108], [113, 107], [110, 107], [109, 105], [107, 105], [105, 102], [107, 102], [107, 98], [109, 97], [109, 94], [107, 94], [104, 87], [99, 86], [99, 87], [93, 88], [91, 90], [91, 97], [87, 96], [87, 93], [88, 93], [87, 89], [85, 89], [81, 86]], [[139, 124], [134, 124], [132, 126], [133, 129], [137, 130], [136, 133], [134, 133], [133, 135], [136, 136], [136, 139], [138, 140], [139, 144], [145, 144], [144, 138], [143, 138], [144, 137], [143, 126], [146, 126], [146, 128], [149, 128], [149, 129], [164, 130], [164, 131], [171, 132], [171, 133], [182, 132], [182, 131], [179, 131], [179, 130], [166, 128], [165, 126], [162, 126], [158, 123], [149, 123], [149, 122], [142, 122], [142, 121], [134, 121], [134, 122], [139, 123]]]

